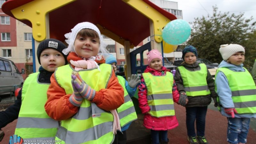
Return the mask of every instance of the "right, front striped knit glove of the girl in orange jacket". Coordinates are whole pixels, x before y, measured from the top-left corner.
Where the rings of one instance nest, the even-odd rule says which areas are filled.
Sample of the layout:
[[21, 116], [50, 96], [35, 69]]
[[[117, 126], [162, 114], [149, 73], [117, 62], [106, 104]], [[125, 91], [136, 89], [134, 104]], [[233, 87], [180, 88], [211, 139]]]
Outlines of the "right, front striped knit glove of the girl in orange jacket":
[[72, 79], [74, 80], [74, 85], [77, 91], [81, 94], [81, 96], [84, 99], [92, 101], [96, 91], [93, 90], [88, 84], [86, 84], [77, 72], [73, 71], [72, 74]]

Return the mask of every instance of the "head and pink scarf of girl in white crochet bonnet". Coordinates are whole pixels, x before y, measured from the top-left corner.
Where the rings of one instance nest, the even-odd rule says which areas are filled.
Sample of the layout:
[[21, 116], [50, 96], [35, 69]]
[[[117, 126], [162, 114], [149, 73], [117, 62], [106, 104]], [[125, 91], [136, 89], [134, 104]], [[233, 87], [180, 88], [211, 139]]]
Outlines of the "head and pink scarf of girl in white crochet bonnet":
[[75, 66], [75, 70], [99, 68], [96, 61], [102, 61], [104, 55], [109, 54], [106, 50], [107, 44], [104, 43], [103, 37], [100, 35], [100, 30], [90, 22], [78, 23], [70, 33], [65, 34], [65, 37], [68, 48], [62, 52], [64, 54], [71, 52], [69, 55], [81, 58], [76, 61], [70, 60], [70, 63]]

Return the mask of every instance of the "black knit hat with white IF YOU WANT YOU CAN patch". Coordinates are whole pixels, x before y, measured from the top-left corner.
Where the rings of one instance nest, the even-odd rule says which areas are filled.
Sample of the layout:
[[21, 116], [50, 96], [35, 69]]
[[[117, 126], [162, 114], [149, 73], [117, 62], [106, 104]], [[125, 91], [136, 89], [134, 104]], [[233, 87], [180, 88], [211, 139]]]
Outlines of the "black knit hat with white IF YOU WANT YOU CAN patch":
[[36, 55], [37, 55], [37, 59], [38, 59], [38, 62], [39, 62], [40, 65], [41, 65], [41, 62], [40, 62], [41, 53], [45, 49], [49, 49], [49, 48], [60, 52], [65, 58], [65, 65], [68, 63], [67, 55], [65, 55], [62, 52], [62, 50], [67, 48], [67, 46], [64, 43], [62, 43], [61, 41], [57, 40], [57, 39], [50, 38], [50, 39], [46, 39], [46, 40], [42, 41], [37, 47]]

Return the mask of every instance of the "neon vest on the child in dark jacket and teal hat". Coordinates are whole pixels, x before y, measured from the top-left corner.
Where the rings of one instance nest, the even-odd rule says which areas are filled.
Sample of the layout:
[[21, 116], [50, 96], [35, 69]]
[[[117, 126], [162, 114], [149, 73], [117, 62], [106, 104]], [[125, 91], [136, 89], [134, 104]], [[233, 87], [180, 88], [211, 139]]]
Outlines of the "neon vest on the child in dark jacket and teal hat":
[[184, 66], [179, 66], [180, 76], [188, 96], [204, 96], [211, 94], [207, 85], [207, 67], [199, 64], [200, 70], [189, 71]]

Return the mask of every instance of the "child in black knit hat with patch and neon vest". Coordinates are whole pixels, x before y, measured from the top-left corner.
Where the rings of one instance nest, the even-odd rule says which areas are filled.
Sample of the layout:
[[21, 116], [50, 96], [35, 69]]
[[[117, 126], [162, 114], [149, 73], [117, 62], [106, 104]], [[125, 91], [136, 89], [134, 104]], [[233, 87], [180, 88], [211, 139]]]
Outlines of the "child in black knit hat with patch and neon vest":
[[37, 48], [37, 58], [41, 64], [39, 72], [30, 74], [25, 80], [15, 104], [0, 112], [1, 128], [18, 118], [15, 134], [25, 143], [28, 140], [44, 143], [37, 140], [50, 142], [55, 138], [59, 123], [46, 114], [44, 104], [55, 68], [67, 64], [66, 56], [62, 53], [65, 48], [66, 45], [56, 39], [42, 41]]

